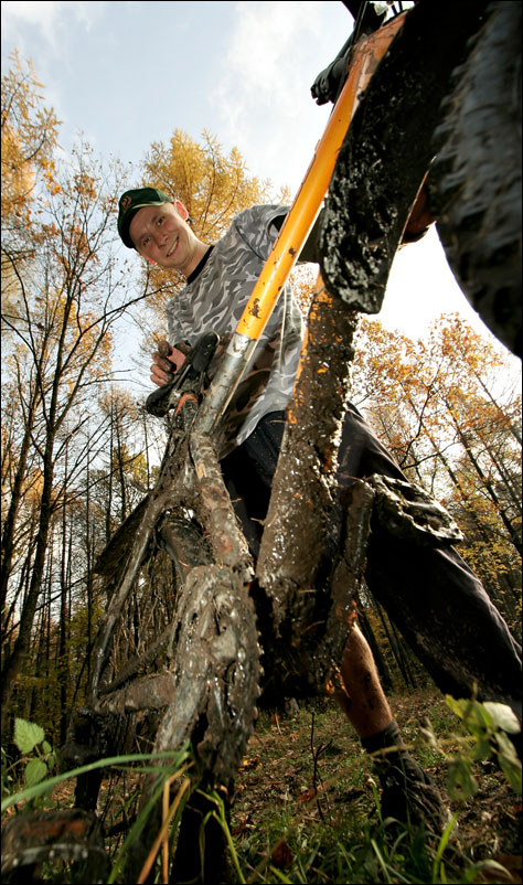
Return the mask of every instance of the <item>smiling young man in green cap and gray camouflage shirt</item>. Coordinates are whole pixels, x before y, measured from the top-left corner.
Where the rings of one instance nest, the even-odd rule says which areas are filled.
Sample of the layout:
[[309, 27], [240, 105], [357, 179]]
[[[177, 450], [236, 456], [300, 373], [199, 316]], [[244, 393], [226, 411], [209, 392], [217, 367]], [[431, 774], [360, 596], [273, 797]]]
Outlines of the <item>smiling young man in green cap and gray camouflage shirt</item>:
[[[193, 344], [211, 329], [226, 342], [287, 211], [285, 206], [246, 210], [212, 246], [195, 236], [179, 200], [152, 188], [127, 191], [121, 196], [118, 232], [126, 246], [162, 267], [179, 270], [186, 279], [167, 308], [171, 342]], [[313, 237], [300, 258], [314, 260]], [[222, 468], [255, 555], [302, 332], [301, 313], [288, 284], [227, 410]], [[178, 369], [183, 360], [177, 346], [171, 346], [167, 360], [156, 353], [151, 380], [164, 384], [172, 365]], [[353, 477], [374, 472], [405, 479], [351, 405], [339, 461], [341, 488]], [[376, 529], [371, 535], [365, 577], [441, 691], [470, 696], [477, 685], [480, 699], [510, 704], [521, 721], [521, 649], [478, 578], [453, 550], [421, 550]], [[350, 633], [341, 674], [349, 697], [345, 713], [363, 747], [378, 754], [374, 758], [384, 814], [416, 819], [429, 809], [438, 818], [441, 808], [437, 792], [402, 746], [371, 650], [357, 627]], [[384, 753], [391, 747], [395, 749]]]

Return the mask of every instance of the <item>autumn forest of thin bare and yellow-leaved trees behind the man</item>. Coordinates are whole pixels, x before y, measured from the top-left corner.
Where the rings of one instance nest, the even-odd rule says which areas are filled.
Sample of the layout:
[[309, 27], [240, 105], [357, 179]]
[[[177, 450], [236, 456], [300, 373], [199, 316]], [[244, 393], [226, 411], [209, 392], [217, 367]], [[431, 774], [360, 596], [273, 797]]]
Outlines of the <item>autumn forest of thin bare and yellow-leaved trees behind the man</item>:
[[[285, 202], [246, 159], [175, 129], [131, 173], [61, 124], [32, 66], [2, 79], [2, 744], [17, 718], [56, 747], [83, 703], [108, 601], [96, 562], [158, 473], [166, 437], [143, 407], [149, 353], [181, 279], [122, 256], [119, 194], [137, 180], [175, 192], [216, 242], [243, 209]], [[296, 271], [307, 311], [313, 273]], [[419, 282], [423, 287], [423, 280]], [[362, 319], [351, 399], [409, 479], [460, 526], [460, 553], [521, 641], [521, 393], [514, 361], [458, 312], [412, 341]], [[364, 632], [387, 690], [430, 685], [385, 612], [362, 594]], [[136, 600], [129, 631], [145, 617]]]

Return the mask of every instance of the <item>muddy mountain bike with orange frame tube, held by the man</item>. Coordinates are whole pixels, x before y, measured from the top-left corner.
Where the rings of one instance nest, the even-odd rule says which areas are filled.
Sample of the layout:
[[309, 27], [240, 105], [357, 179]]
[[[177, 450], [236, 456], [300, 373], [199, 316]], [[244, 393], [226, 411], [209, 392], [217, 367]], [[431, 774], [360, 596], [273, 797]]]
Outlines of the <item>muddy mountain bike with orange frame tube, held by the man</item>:
[[[345, 6], [352, 9], [352, 3]], [[506, 7], [511, 22], [501, 26]], [[168, 424], [167, 449], [154, 489], [100, 557], [110, 599], [90, 655], [86, 704], [77, 711], [66, 748], [70, 767], [77, 767], [143, 746], [140, 740], [153, 747], [156, 763], [140, 787], [141, 832], [122, 881], [152, 881], [158, 835], [168, 838], [172, 809], [177, 820], [191, 789], [192, 804], [182, 818], [178, 846], [166, 850], [170, 872], [163, 871], [163, 881], [216, 881], [220, 833], [207, 828], [202, 861], [199, 831], [210, 807], [199, 798], [198, 785], [226, 788], [234, 780], [262, 686], [275, 671], [289, 693], [297, 686], [306, 694], [340, 687], [338, 663], [363, 575], [373, 510], [424, 541], [457, 540], [445, 512], [421, 490], [380, 477], [360, 481], [346, 501], [345, 547], [332, 564], [330, 580], [319, 582], [359, 313], [380, 310], [393, 257], [427, 171], [431, 206], [442, 199], [437, 194], [450, 199], [450, 191], [456, 199], [456, 189], [445, 184], [448, 174], [457, 175], [449, 171], [453, 148], [442, 148], [442, 159], [433, 162], [435, 145], [445, 139], [459, 142], [459, 125], [441, 125], [441, 102], [452, 93], [455, 79], [458, 92], [468, 82], [471, 61], [483, 53], [490, 57], [493, 51], [482, 46], [494, 25], [512, 39], [512, 8], [521, 17], [520, 3], [421, 0], [385, 22], [371, 4], [354, 9], [350, 43], [313, 86], [317, 99], [335, 102], [325, 134], [217, 372], [207, 383], [216, 345], [210, 330], [193, 342], [173, 381], [149, 399], [149, 408]], [[457, 104], [457, 98], [450, 100], [451, 108]], [[323, 200], [321, 277], [254, 562], [223, 481], [216, 439]], [[469, 215], [458, 215], [456, 232], [453, 213], [445, 203], [441, 223], [451, 231], [452, 243], [465, 236], [469, 244], [473, 220], [462, 224]], [[481, 299], [515, 348], [511, 305], [517, 284], [510, 262], [515, 247], [509, 243], [512, 234], [506, 236], [504, 264], [500, 267], [492, 258]], [[472, 262], [461, 259], [470, 253], [456, 245], [456, 254], [458, 264], [469, 269]], [[480, 277], [481, 267], [476, 266], [473, 281]], [[477, 291], [472, 287], [469, 297]], [[500, 299], [508, 305], [504, 312], [498, 309]], [[141, 611], [138, 631], [135, 606]], [[173, 798], [168, 791], [163, 806], [166, 754], [188, 747], [191, 766], [183, 771], [189, 787], [180, 798], [180, 781], [169, 772], [178, 792]], [[25, 877], [28, 867], [54, 851], [82, 861], [84, 881], [105, 881], [107, 862], [96, 815], [102, 777], [99, 768], [82, 775], [75, 810], [57, 822], [52, 819], [43, 835], [44, 823], [39, 822], [39, 831], [25, 821], [22, 836], [14, 819], [6, 833], [4, 875], [11, 881]], [[175, 841], [177, 835], [171, 838]]]

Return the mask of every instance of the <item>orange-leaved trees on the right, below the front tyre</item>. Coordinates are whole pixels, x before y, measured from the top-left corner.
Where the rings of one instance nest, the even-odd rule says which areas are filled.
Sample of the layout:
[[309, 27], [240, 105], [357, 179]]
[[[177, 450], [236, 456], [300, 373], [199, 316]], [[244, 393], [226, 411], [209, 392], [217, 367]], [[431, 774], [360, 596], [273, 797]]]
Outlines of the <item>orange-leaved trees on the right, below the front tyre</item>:
[[447, 501], [466, 534], [460, 552], [489, 586], [519, 568], [516, 382], [509, 360], [459, 314], [417, 342], [361, 321], [351, 399], [407, 476]]

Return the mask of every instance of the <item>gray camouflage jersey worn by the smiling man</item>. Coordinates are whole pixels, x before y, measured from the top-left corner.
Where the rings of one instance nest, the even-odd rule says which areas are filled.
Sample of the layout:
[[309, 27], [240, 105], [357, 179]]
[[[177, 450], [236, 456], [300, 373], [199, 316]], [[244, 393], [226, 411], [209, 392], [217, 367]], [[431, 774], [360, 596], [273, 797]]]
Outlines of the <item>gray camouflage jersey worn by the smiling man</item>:
[[[288, 206], [253, 206], [233, 221], [196, 278], [167, 306], [169, 340], [193, 345], [201, 334], [220, 335], [221, 355], [278, 235], [275, 218]], [[288, 282], [227, 408], [220, 457], [243, 442], [264, 415], [285, 409], [292, 393], [303, 334], [303, 319]], [[214, 374], [218, 360], [211, 366]]]

